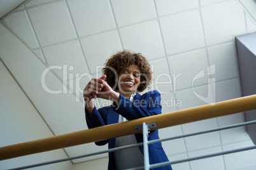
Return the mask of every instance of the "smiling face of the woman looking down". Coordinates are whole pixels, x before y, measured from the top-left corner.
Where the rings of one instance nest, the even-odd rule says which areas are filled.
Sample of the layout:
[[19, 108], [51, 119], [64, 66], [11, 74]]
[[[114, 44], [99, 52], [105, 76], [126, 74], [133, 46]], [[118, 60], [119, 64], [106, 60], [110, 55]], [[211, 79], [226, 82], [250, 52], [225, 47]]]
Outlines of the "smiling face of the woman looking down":
[[137, 65], [129, 65], [124, 67], [118, 74], [118, 88], [119, 93], [126, 98], [137, 91], [139, 83], [141, 82], [141, 72]]

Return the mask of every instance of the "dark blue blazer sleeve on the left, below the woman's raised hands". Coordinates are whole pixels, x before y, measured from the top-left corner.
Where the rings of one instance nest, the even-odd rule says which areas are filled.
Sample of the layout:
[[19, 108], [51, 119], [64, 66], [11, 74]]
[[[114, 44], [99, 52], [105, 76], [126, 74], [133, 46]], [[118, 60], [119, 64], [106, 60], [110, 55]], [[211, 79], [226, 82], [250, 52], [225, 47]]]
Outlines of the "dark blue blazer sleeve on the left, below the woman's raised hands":
[[[89, 115], [86, 107], [85, 107], [85, 119], [87, 122], [88, 128], [96, 128], [99, 126], [104, 126], [106, 125], [106, 114], [104, 112], [101, 112], [101, 109], [97, 110], [97, 108], [94, 106], [94, 112]], [[103, 141], [96, 141], [96, 145], [106, 145], [108, 143], [108, 140], [103, 140]]]

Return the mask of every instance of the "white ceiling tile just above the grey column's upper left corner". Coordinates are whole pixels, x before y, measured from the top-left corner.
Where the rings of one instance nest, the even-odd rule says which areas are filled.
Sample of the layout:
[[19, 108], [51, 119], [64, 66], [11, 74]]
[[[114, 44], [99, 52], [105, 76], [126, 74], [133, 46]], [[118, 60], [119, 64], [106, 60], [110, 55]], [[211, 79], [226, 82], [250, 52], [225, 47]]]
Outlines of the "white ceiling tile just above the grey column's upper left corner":
[[245, 32], [245, 13], [236, 1], [227, 1], [202, 8], [206, 44], [232, 41]]

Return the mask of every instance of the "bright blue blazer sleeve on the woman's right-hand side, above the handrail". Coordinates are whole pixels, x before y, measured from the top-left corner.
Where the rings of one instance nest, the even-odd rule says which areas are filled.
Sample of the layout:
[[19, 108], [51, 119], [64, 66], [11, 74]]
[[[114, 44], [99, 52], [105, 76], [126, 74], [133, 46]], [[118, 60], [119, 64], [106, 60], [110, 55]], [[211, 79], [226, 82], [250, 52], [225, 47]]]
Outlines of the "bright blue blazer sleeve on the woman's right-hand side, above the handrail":
[[158, 91], [151, 91], [146, 94], [146, 97], [139, 101], [132, 102], [131, 100], [120, 95], [119, 105], [115, 105], [115, 111], [128, 119], [139, 119], [150, 115], [162, 114], [161, 97]]

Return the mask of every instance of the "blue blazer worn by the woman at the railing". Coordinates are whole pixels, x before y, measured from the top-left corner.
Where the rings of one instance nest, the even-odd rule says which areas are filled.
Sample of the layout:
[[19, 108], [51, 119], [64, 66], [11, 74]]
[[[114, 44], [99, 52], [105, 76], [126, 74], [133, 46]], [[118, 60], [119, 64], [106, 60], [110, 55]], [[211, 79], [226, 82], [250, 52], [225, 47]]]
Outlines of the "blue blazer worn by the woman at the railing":
[[[147, 117], [150, 115], [157, 115], [162, 113], [160, 93], [158, 91], [150, 91], [144, 95], [138, 93], [134, 96], [134, 101], [125, 98], [120, 95], [119, 105], [110, 105], [108, 107], [94, 108], [92, 114], [88, 114], [85, 108], [85, 117], [88, 128], [96, 128], [98, 126], [104, 126], [107, 124], [115, 124], [118, 122], [119, 114], [131, 121], [133, 119], [139, 119], [141, 117]], [[135, 134], [138, 143], [143, 142], [143, 134]], [[158, 130], [151, 131], [148, 136], [148, 140], [159, 139]], [[96, 145], [105, 145], [108, 143], [108, 148], [115, 146], [115, 138], [104, 141], [97, 141]], [[144, 153], [143, 146], [139, 147], [141, 152]], [[150, 164], [156, 164], [160, 162], [167, 162], [167, 156], [162, 148], [161, 143], [153, 143], [148, 145]], [[113, 152], [108, 153], [109, 162], [108, 169], [115, 169], [115, 159]], [[171, 169], [171, 166], [164, 166], [155, 169]]]

